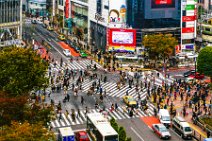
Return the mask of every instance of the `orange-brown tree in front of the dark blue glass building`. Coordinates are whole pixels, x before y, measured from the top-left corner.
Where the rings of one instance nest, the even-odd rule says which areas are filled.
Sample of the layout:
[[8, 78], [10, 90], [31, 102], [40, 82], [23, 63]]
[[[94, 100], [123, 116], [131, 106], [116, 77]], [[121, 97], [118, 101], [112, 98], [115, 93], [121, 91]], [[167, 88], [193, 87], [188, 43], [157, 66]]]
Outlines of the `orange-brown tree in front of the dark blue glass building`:
[[171, 34], [153, 34], [144, 36], [142, 44], [149, 51], [151, 59], [156, 61], [161, 58], [165, 64], [178, 42]]

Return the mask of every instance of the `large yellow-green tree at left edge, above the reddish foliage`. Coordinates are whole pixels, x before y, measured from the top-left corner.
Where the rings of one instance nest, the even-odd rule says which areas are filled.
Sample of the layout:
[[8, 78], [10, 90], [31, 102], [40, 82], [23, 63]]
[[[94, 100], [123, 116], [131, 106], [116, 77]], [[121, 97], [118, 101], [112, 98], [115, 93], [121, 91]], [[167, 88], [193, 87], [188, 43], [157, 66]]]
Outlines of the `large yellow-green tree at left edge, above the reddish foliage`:
[[0, 91], [10, 96], [29, 94], [48, 84], [48, 63], [31, 49], [8, 47], [0, 51]]

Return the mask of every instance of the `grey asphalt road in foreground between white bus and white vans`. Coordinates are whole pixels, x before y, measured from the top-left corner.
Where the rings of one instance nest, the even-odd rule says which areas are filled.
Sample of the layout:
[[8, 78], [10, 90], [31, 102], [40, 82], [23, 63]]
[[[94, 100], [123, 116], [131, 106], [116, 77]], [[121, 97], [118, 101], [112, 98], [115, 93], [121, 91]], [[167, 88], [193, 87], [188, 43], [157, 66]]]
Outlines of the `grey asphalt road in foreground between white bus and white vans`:
[[[161, 141], [152, 129], [139, 118], [123, 119], [117, 122], [126, 129], [126, 133], [132, 138], [132, 141]], [[183, 141], [172, 129], [169, 131], [172, 136], [170, 141]]]

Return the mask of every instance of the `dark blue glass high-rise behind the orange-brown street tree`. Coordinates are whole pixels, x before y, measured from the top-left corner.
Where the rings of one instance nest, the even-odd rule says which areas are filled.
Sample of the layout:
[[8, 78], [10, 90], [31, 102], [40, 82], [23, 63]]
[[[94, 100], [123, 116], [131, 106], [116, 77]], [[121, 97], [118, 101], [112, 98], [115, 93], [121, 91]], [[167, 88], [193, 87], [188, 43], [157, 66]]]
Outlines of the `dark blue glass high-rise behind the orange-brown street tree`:
[[137, 46], [142, 37], [171, 33], [180, 42], [181, 0], [127, 0], [127, 25], [137, 29]]

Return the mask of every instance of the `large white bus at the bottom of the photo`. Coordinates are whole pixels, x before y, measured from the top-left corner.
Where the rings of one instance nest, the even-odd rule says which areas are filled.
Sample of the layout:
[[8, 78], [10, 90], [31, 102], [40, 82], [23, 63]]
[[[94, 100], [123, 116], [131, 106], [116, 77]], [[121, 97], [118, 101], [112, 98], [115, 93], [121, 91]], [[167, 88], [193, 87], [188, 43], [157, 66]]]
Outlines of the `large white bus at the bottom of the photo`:
[[87, 131], [96, 141], [118, 141], [118, 133], [101, 113], [87, 114]]

